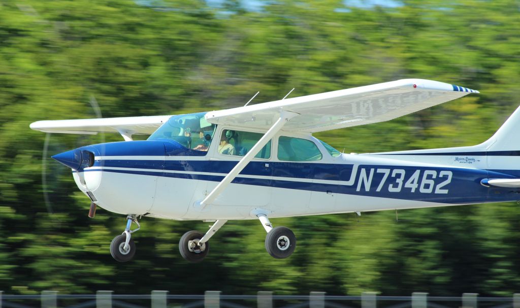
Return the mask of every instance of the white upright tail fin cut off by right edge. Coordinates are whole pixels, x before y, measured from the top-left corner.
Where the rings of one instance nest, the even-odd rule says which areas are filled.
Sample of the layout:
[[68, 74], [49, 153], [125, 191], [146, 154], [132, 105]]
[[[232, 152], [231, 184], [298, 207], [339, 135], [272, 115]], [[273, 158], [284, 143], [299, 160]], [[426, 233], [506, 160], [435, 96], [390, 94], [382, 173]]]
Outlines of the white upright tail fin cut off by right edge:
[[[500, 154], [501, 156], [520, 155], [520, 107], [511, 114], [509, 119], [500, 126], [491, 138], [480, 144], [480, 146], [484, 146], [488, 153], [503, 152]], [[520, 169], [520, 166], [518, 167]]]

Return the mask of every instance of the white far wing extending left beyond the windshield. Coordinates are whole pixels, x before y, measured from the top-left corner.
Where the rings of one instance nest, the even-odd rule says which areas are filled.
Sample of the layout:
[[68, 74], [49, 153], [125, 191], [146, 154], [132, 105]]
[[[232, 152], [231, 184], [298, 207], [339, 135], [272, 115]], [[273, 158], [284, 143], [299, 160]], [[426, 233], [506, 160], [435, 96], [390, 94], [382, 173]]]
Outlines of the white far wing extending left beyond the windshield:
[[150, 117], [102, 118], [80, 120], [37, 121], [31, 129], [46, 133], [97, 134], [98, 132], [120, 133], [125, 140], [133, 134], [151, 134], [171, 115]]

